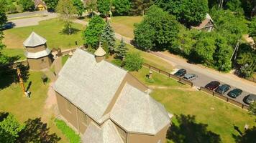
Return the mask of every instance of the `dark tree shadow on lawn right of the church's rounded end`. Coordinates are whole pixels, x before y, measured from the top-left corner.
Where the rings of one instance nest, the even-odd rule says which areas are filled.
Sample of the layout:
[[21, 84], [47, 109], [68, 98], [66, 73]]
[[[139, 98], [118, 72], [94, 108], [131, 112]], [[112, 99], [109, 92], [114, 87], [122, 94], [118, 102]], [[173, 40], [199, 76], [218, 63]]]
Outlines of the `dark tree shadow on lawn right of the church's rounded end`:
[[196, 123], [195, 116], [175, 115], [178, 124], [172, 124], [167, 132], [167, 138], [175, 143], [219, 143], [219, 134], [208, 131], [208, 124]]

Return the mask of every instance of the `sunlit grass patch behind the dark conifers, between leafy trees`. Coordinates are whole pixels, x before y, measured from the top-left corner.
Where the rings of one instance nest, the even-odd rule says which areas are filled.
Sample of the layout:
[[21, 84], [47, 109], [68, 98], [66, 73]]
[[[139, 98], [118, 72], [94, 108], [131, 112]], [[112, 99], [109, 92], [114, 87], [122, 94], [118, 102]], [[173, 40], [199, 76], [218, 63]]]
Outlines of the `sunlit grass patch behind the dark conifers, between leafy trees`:
[[114, 16], [111, 19], [111, 25], [116, 33], [134, 38], [134, 24], [140, 23], [142, 19], [142, 16]]

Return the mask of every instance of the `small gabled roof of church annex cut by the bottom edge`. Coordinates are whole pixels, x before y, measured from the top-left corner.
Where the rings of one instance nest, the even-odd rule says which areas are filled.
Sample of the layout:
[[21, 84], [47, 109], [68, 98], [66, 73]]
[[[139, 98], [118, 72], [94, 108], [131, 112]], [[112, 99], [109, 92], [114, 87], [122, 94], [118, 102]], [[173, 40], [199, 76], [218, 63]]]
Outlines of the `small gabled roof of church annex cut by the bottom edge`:
[[115, 125], [110, 120], [104, 122], [102, 127], [91, 122], [83, 134], [86, 143], [123, 143]]

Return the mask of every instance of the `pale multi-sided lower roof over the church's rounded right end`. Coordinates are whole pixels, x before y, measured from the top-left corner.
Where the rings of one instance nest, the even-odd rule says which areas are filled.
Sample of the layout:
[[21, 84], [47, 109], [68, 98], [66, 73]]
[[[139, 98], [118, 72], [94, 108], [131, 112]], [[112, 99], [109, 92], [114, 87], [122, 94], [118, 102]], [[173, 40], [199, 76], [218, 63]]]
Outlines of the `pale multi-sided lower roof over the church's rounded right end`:
[[170, 124], [170, 118], [162, 104], [145, 92], [125, 84], [110, 118], [127, 132], [156, 134]]

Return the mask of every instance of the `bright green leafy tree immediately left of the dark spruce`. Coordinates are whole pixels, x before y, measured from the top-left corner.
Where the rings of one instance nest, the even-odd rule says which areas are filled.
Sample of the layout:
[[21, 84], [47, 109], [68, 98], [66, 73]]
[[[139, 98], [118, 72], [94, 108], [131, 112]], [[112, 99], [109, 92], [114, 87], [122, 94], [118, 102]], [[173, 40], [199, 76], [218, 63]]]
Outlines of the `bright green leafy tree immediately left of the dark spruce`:
[[83, 32], [84, 44], [90, 44], [94, 49], [99, 45], [100, 36], [104, 30], [105, 22], [100, 16], [93, 16], [86, 30]]

